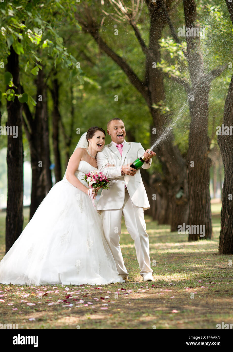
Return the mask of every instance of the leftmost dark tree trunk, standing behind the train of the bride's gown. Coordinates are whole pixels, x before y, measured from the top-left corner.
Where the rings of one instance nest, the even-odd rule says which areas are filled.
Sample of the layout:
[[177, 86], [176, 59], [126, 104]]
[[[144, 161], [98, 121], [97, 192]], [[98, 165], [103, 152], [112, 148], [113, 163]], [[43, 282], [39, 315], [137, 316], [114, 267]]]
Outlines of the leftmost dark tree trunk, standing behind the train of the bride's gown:
[[[7, 60], [7, 71], [13, 76], [13, 83], [19, 87], [19, 57], [13, 47]], [[19, 88], [11, 87], [16, 94]], [[18, 137], [8, 135], [7, 144], [7, 210], [6, 210], [6, 252], [12, 247], [23, 231], [23, 190], [24, 190], [24, 151], [22, 136], [22, 105], [18, 97], [7, 101], [8, 127], [18, 128]]]

